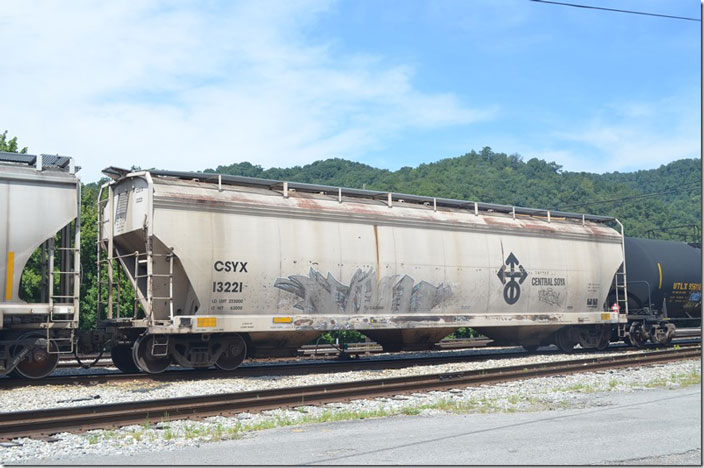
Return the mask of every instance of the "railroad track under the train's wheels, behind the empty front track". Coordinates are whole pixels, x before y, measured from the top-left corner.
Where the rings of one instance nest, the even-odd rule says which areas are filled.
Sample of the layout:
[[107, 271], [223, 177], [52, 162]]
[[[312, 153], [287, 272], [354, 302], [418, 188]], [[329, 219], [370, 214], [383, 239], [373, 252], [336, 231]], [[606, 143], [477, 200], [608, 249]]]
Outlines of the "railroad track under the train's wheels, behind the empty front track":
[[[681, 347], [698, 346], [700, 343], [696, 339], [682, 339], [672, 343]], [[621, 352], [625, 345], [612, 344], [609, 351]], [[635, 349], [635, 348], [629, 348]], [[650, 346], [649, 349], [658, 349]], [[0, 389], [10, 389], [18, 387], [46, 386], [46, 385], [93, 385], [108, 382], [124, 382], [148, 380], [156, 382], [170, 382], [175, 380], [209, 380], [233, 377], [256, 377], [262, 375], [306, 375], [322, 374], [330, 372], [349, 372], [361, 370], [379, 369], [402, 369], [412, 366], [430, 366], [436, 364], [449, 364], [453, 362], [471, 362], [490, 358], [514, 358], [528, 355], [525, 350], [517, 348], [516, 351], [507, 351], [505, 348], [496, 352], [495, 350], [471, 351], [450, 351], [443, 354], [433, 354], [429, 356], [403, 357], [399, 355], [388, 358], [375, 357], [372, 359], [351, 359], [351, 360], [325, 360], [318, 362], [284, 362], [284, 363], [249, 363], [239, 367], [235, 371], [221, 371], [217, 369], [173, 369], [162, 374], [145, 373], [100, 373], [100, 374], [74, 374], [55, 375], [45, 377], [40, 380], [0, 378]], [[560, 353], [556, 349], [548, 349], [532, 355], [553, 355]]]

